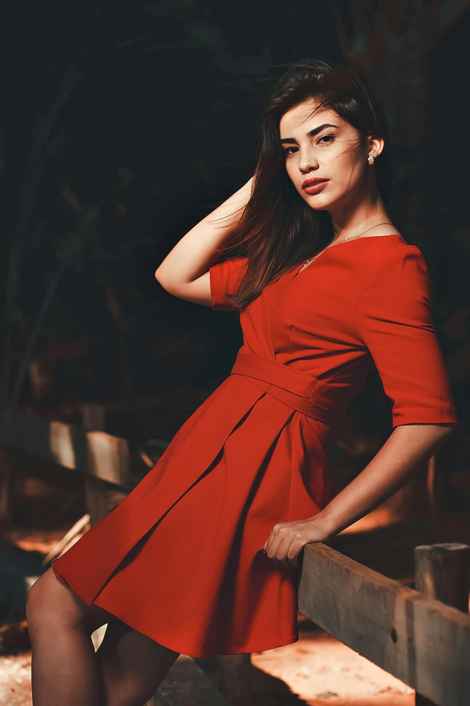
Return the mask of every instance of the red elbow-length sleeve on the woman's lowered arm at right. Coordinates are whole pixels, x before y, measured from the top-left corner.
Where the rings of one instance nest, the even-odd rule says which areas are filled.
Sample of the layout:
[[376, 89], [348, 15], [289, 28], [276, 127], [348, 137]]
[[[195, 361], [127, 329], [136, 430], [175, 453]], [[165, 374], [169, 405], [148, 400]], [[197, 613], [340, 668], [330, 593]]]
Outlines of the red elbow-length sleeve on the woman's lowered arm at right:
[[457, 421], [432, 297], [423, 255], [406, 246], [381, 265], [357, 304], [357, 331], [393, 403], [393, 426]]

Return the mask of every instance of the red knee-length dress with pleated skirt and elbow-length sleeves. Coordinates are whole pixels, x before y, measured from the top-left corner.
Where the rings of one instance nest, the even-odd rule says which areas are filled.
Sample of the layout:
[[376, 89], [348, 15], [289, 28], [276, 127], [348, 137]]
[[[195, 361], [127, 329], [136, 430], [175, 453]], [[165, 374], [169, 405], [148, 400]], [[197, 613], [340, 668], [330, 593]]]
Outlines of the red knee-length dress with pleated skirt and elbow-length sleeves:
[[[210, 270], [223, 309], [245, 266]], [[335, 422], [375, 364], [393, 423], [457, 417], [420, 251], [399, 236], [324, 251], [240, 315], [230, 377], [128, 498], [54, 562], [87, 604], [192, 657], [297, 640], [295, 570], [261, 547], [335, 495]]]

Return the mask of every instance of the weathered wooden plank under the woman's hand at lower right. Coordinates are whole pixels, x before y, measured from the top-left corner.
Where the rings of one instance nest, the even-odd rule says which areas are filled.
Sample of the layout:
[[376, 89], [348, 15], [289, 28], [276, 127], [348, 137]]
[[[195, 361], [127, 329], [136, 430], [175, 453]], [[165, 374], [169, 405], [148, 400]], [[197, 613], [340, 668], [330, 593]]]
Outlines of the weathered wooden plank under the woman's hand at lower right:
[[470, 616], [324, 544], [305, 547], [299, 611], [438, 706], [466, 706]]

